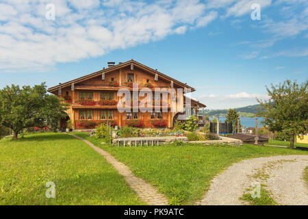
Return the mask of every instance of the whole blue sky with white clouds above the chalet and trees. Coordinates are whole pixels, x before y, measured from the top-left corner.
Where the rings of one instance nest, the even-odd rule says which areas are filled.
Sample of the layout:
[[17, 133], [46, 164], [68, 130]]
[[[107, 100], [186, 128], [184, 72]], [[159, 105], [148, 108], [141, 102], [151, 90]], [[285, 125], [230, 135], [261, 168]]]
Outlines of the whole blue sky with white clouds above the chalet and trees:
[[270, 83], [305, 81], [307, 42], [301, 0], [0, 0], [0, 87], [54, 86], [133, 58], [196, 88], [208, 109], [242, 107]]

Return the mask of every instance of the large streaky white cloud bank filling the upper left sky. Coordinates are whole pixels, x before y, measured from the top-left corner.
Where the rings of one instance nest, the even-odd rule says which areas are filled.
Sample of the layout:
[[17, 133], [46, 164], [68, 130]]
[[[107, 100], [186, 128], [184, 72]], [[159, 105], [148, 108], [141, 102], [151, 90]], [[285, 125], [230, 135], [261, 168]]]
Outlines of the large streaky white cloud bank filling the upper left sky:
[[[55, 5], [55, 21], [45, 18]], [[217, 12], [199, 0], [3, 0], [0, 3], [0, 71], [49, 70], [114, 49], [204, 27]]]

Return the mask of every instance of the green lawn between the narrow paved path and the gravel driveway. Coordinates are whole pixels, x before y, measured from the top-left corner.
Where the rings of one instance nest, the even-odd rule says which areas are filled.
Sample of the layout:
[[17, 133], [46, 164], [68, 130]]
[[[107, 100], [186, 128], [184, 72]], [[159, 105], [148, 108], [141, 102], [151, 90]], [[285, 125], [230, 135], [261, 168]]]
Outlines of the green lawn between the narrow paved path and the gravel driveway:
[[102, 140], [75, 133], [109, 151], [142, 179], [166, 194], [170, 204], [192, 204], [209, 188], [210, 181], [224, 168], [242, 159], [270, 155], [305, 154], [307, 151], [244, 144], [237, 146], [110, 146]]

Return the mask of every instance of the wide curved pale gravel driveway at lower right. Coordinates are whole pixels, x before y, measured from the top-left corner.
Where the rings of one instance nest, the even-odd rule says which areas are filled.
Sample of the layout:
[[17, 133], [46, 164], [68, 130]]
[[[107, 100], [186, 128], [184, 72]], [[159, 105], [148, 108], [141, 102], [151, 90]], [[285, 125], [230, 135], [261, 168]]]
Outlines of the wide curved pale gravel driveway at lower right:
[[303, 179], [308, 155], [245, 159], [224, 170], [211, 183], [198, 205], [245, 205], [239, 198], [259, 182], [268, 185], [280, 205], [308, 205], [308, 187]]

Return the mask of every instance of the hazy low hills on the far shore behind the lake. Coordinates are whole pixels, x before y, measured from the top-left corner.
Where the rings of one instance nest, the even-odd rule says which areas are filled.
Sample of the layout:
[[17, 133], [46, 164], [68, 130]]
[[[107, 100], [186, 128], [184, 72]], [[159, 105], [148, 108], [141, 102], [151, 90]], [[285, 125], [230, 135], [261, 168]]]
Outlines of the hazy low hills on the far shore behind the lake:
[[[256, 105], [248, 105], [246, 107], [239, 107], [239, 108], [235, 108], [236, 111], [240, 114], [240, 116], [242, 117], [253, 117], [255, 116], [255, 114], [257, 114], [258, 112], [258, 108], [260, 108], [261, 105], [260, 104], [256, 104]], [[207, 110], [205, 112], [205, 116], [220, 116], [220, 117], [224, 117], [226, 116], [228, 110]], [[201, 112], [202, 114], [202, 112]]]

